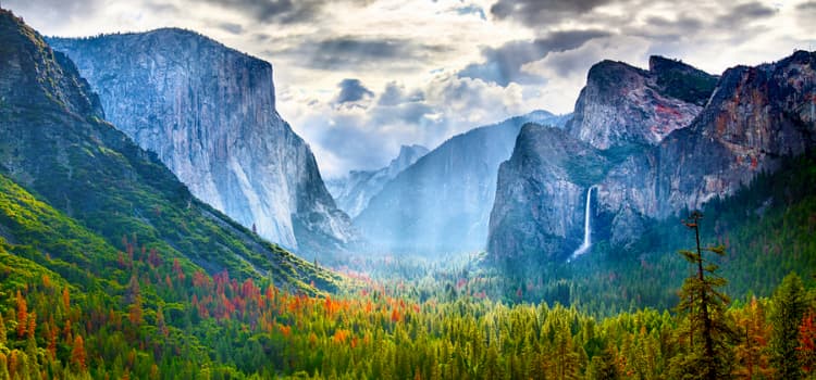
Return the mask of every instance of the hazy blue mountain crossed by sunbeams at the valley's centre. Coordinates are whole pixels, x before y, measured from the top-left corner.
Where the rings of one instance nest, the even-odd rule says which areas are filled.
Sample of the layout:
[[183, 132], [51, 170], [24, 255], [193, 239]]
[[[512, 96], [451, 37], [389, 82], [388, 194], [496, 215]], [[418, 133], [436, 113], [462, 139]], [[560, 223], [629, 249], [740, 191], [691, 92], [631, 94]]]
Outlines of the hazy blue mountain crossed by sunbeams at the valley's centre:
[[498, 165], [527, 123], [562, 126], [536, 111], [455, 136], [383, 186], [356, 218], [375, 250], [397, 253], [484, 249]]

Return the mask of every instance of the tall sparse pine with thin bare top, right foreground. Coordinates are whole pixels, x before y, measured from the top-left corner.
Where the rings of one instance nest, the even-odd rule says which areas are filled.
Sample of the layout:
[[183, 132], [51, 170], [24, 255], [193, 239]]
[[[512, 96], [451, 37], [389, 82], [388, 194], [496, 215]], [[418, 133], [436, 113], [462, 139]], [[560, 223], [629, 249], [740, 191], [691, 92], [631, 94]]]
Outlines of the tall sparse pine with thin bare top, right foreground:
[[672, 377], [691, 379], [726, 379], [731, 376], [732, 352], [729, 341], [734, 337], [726, 315], [730, 300], [718, 288], [726, 279], [716, 275], [718, 266], [703, 257], [703, 252], [725, 255], [722, 246], [700, 245], [700, 219], [703, 214], [693, 212], [685, 226], [694, 230], [696, 252], [682, 250], [679, 253], [696, 267], [696, 274], [683, 282], [680, 290], [678, 312], [688, 318], [691, 338], [688, 354], [672, 360]]

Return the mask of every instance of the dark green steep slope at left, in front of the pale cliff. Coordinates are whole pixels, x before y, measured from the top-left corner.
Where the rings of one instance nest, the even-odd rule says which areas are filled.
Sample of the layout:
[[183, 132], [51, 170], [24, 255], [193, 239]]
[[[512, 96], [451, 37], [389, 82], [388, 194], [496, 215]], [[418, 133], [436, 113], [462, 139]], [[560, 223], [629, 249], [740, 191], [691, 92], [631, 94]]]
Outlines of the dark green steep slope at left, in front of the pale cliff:
[[111, 292], [136, 276], [123, 269], [123, 251], [139, 249], [165, 265], [336, 289], [338, 277], [200, 202], [103, 118], [67, 56], [0, 10], [0, 245]]

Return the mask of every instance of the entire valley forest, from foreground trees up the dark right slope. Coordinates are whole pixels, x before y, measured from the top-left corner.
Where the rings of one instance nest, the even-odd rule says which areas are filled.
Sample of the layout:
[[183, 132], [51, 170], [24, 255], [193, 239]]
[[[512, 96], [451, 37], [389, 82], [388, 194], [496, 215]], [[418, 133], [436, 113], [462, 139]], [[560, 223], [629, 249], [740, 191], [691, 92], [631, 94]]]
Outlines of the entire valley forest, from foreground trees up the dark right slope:
[[3, 181], [3, 225], [35, 244], [0, 238], [0, 379], [813, 378], [808, 167], [644, 235], [675, 252], [599, 244], [526, 281], [480, 254], [355, 258], [332, 293], [211, 276], [138, 233], [83, 264], [108, 243]]

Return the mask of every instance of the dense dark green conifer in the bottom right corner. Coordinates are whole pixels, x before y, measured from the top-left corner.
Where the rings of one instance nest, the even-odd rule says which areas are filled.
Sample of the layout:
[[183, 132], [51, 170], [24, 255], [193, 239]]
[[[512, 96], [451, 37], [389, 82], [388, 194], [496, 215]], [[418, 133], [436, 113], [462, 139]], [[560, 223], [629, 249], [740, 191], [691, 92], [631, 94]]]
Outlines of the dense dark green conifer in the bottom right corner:
[[796, 274], [786, 276], [774, 293], [771, 302], [772, 364], [780, 378], [799, 379], [802, 377], [802, 366], [796, 355], [799, 327], [807, 309], [807, 297], [802, 279]]

